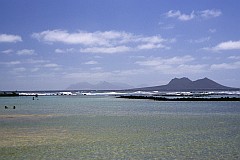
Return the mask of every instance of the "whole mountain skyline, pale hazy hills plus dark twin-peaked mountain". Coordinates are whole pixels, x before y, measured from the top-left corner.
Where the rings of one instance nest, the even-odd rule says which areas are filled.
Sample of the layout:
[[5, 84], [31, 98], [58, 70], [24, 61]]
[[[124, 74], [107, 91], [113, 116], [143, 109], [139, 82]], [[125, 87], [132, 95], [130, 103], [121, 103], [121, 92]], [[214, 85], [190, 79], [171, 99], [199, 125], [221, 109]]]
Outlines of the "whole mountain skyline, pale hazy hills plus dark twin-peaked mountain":
[[207, 77], [190, 80], [187, 77], [173, 78], [166, 85], [150, 86], [150, 87], [133, 87], [125, 83], [110, 83], [106, 81], [97, 84], [88, 82], [80, 82], [71, 84], [67, 90], [131, 90], [131, 91], [214, 91], [214, 90], [240, 90], [221, 85]]

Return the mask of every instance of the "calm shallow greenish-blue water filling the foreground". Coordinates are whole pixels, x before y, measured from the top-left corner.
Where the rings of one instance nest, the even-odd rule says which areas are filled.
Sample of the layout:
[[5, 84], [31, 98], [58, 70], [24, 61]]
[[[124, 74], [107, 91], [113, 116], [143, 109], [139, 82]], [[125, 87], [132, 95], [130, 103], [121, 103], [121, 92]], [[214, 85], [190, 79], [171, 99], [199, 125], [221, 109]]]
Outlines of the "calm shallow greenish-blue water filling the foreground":
[[1, 160], [240, 159], [239, 150], [240, 102], [0, 97]]

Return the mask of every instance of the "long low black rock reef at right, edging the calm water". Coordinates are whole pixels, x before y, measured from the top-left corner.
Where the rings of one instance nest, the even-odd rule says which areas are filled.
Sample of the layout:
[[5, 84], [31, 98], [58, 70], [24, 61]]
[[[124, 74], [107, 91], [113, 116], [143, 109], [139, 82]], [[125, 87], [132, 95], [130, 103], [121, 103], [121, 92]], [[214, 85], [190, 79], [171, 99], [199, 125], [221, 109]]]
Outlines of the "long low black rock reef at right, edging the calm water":
[[220, 98], [196, 98], [196, 97], [181, 97], [181, 98], [166, 98], [155, 96], [119, 96], [117, 98], [125, 99], [148, 99], [154, 101], [240, 101], [237, 97], [220, 97]]

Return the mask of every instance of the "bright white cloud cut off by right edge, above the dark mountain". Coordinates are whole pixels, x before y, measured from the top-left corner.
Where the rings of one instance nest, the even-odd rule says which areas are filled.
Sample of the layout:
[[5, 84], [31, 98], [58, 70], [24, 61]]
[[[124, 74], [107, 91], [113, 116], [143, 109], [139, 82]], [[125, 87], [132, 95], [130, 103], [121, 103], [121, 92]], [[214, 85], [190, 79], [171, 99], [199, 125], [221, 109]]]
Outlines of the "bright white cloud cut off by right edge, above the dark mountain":
[[204, 48], [205, 50], [211, 51], [225, 51], [225, 50], [240, 50], [240, 40], [239, 41], [227, 41], [221, 42], [215, 47]]

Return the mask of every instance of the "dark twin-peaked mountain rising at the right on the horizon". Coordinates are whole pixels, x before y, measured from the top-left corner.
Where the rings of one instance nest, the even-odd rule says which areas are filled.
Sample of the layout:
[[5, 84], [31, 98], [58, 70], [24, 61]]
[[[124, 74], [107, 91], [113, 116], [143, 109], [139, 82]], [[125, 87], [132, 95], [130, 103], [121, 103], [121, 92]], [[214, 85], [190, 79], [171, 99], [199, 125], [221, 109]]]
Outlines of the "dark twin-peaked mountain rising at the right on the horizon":
[[208, 79], [208, 78], [191, 81], [190, 79], [183, 77], [183, 78], [174, 78], [167, 85], [135, 88], [133, 90], [142, 90], [142, 91], [195, 91], [195, 90], [202, 90], [202, 91], [209, 91], [209, 90], [239, 90], [239, 89], [223, 86], [223, 85], [221, 85], [217, 82], [214, 82], [213, 80]]

